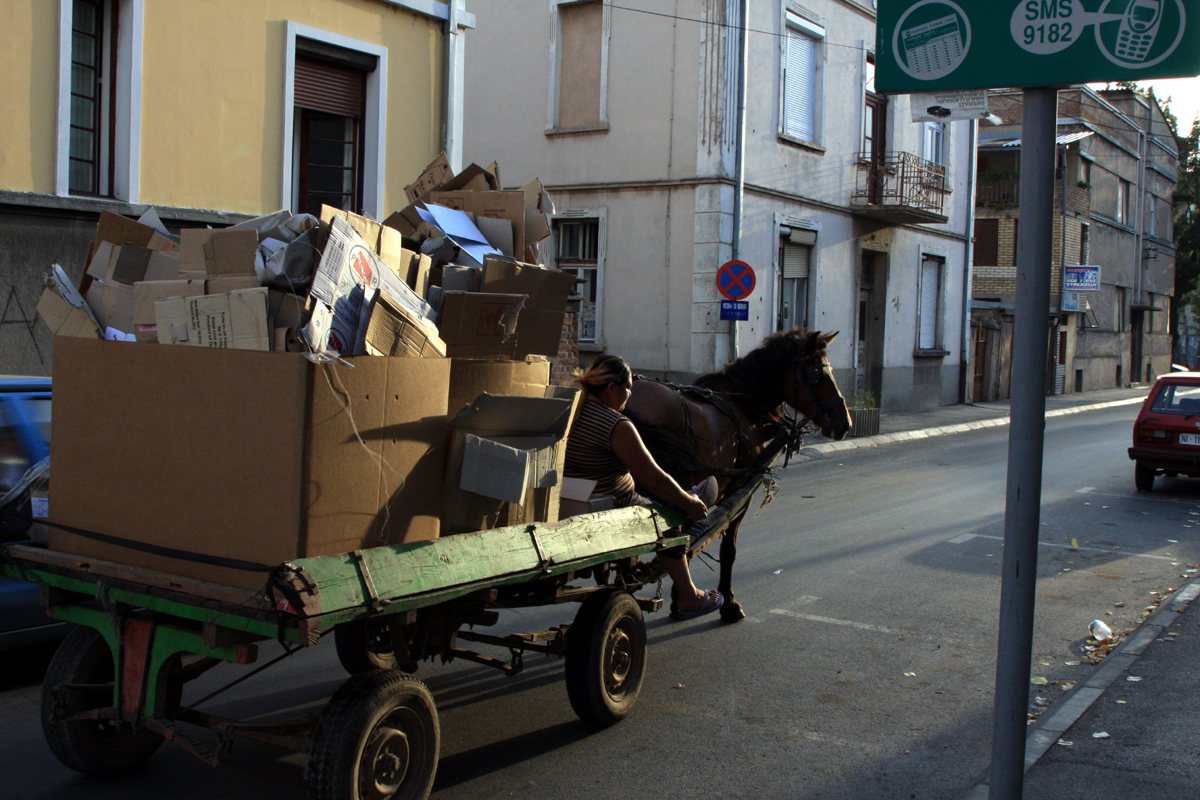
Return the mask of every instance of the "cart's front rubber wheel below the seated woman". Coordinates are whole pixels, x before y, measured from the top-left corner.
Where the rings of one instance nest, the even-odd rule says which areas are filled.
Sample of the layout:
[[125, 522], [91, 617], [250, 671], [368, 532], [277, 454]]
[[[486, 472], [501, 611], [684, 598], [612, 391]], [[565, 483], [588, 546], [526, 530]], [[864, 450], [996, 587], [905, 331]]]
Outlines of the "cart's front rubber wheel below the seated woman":
[[606, 728], [629, 716], [646, 678], [646, 620], [632, 595], [601, 591], [583, 602], [568, 633], [565, 672], [581, 720]]

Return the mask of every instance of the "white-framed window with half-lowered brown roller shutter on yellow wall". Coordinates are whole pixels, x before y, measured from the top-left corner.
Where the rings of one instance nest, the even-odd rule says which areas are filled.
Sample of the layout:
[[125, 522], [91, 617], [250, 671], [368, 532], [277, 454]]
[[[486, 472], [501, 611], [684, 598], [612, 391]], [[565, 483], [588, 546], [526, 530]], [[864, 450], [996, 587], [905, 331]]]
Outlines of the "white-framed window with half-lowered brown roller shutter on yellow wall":
[[283, 205], [384, 210], [388, 49], [288, 23]]

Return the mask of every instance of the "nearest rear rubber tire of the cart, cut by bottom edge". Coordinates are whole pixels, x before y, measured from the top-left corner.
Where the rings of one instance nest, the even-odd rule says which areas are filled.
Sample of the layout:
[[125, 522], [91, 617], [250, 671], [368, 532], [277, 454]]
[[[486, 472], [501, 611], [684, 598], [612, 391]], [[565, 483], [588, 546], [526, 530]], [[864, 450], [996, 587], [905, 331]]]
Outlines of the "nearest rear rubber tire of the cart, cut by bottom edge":
[[312, 800], [424, 800], [442, 734], [425, 684], [394, 669], [354, 675], [334, 692], [312, 734]]

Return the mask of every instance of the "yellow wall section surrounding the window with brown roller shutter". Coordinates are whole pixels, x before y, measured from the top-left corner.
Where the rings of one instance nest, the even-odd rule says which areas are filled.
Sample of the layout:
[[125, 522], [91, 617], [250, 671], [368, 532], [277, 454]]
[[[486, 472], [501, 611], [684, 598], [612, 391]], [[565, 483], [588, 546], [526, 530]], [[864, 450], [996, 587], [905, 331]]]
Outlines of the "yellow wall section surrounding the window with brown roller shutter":
[[407, 205], [440, 149], [443, 24], [372, 0], [145, 4], [142, 203], [280, 207], [288, 22], [388, 48], [384, 213]]

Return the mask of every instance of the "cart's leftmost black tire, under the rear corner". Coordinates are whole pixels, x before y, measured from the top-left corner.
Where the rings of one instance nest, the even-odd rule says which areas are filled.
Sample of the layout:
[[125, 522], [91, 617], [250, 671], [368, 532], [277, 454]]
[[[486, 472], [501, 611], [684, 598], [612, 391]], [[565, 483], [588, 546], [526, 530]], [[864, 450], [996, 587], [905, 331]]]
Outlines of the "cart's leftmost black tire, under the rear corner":
[[[163, 739], [152, 730], [114, 722], [77, 720], [54, 722], [55, 696], [64, 684], [110, 684], [113, 651], [100, 631], [76, 627], [67, 634], [42, 682], [42, 734], [50, 752], [66, 766], [97, 777], [112, 777], [136, 769], [150, 758]], [[70, 693], [66, 714], [79, 714], [113, 704], [110, 691]]]

